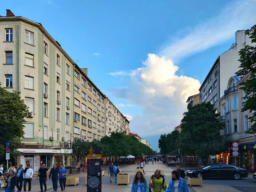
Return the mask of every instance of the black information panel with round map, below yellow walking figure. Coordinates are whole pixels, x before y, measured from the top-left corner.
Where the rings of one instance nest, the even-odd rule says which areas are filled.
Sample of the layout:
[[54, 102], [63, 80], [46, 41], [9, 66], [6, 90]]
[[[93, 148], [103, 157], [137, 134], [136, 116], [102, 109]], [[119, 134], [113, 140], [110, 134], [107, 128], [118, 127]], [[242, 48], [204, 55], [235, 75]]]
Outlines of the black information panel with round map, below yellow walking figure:
[[87, 192], [102, 192], [102, 159], [87, 160]]

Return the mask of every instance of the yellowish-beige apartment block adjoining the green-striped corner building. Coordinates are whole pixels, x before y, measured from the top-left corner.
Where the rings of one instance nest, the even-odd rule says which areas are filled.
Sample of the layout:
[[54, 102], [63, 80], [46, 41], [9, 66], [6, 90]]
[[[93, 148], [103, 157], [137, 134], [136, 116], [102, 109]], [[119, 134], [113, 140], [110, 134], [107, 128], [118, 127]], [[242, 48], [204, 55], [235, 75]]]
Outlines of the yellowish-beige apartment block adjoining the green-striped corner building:
[[88, 78], [88, 70], [74, 67], [74, 139], [105, 136], [105, 95]]

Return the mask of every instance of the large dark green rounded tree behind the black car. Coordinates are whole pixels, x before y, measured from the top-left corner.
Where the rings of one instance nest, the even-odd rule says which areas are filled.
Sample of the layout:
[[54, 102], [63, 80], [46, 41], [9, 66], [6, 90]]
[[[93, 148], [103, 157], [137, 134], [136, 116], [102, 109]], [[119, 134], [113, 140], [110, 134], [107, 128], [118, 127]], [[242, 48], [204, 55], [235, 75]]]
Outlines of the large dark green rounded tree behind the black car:
[[220, 114], [215, 111], [210, 102], [188, 106], [177, 138], [177, 146], [182, 154], [206, 157], [223, 150], [220, 136], [222, 127], [218, 121]]

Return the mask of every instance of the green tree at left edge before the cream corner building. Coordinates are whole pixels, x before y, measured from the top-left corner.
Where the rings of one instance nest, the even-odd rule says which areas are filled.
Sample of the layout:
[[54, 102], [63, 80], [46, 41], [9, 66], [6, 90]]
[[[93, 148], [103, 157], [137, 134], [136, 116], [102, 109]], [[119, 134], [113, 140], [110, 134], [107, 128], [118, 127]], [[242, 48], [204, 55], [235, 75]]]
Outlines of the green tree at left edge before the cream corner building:
[[9, 92], [0, 84], [0, 156], [5, 155], [6, 142], [10, 142], [10, 154], [15, 156], [17, 148], [23, 146], [20, 138], [23, 138], [26, 120], [29, 111], [20, 98], [17, 91]]

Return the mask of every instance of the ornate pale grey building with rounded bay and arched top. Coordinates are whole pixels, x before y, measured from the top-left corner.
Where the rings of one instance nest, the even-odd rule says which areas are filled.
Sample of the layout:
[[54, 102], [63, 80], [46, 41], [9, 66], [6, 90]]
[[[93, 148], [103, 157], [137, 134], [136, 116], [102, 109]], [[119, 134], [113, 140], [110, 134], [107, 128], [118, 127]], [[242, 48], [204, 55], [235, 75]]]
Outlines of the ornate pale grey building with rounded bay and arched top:
[[224, 96], [219, 100], [219, 108], [221, 109], [220, 122], [223, 130], [221, 135], [223, 140], [228, 143], [230, 150], [222, 154], [225, 163], [233, 164], [235, 159], [232, 157], [232, 143], [239, 143], [239, 157], [237, 163], [240, 167], [254, 170], [253, 159], [256, 153], [254, 147], [255, 135], [245, 134], [252, 123], [248, 120], [252, 114], [247, 110], [242, 112], [242, 103], [246, 100], [243, 98], [246, 93], [240, 89], [241, 82], [246, 81], [249, 75], [244, 77], [233, 76], [227, 81], [227, 89]]

